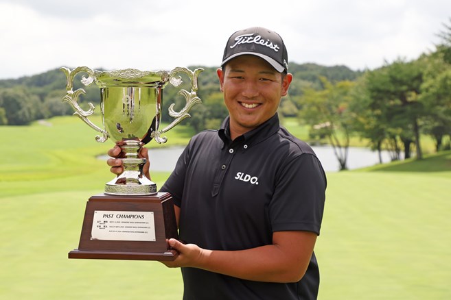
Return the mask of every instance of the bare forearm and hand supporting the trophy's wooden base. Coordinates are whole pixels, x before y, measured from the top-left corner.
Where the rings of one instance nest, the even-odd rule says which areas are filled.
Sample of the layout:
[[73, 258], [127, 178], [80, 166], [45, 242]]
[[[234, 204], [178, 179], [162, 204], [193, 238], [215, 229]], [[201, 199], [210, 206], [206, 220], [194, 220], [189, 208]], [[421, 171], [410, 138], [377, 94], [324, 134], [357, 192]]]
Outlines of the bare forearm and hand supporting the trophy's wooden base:
[[179, 258], [167, 266], [189, 266], [259, 282], [297, 282], [308, 268], [316, 241], [311, 232], [279, 232], [274, 244], [238, 251], [174, 245]]

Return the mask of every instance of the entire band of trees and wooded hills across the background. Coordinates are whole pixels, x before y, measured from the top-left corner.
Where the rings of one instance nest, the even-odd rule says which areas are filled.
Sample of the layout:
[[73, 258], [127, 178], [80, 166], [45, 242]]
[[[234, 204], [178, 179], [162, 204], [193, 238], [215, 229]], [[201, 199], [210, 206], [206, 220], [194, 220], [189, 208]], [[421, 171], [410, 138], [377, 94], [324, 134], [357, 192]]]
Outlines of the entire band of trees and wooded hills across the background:
[[[420, 140], [425, 135], [435, 140], [437, 151], [450, 149], [451, 26], [444, 27], [434, 51], [415, 60], [385, 62], [373, 70], [290, 63], [294, 79], [289, 95], [281, 100], [279, 114], [298, 118], [308, 126], [310, 142], [332, 145], [342, 170], [347, 168], [352, 136], [368, 140], [379, 153], [388, 149], [392, 160], [410, 158], [413, 153], [421, 159]], [[197, 67], [202, 66], [189, 68]], [[198, 77], [198, 96], [203, 102], [183, 121], [196, 132], [220, 127], [227, 116], [216, 68], [203, 68]], [[65, 85], [65, 75], [58, 69], [0, 80], [0, 125], [26, 125], [40, 118], [72, 114], [70, 106], [62, 102]], [[100, 92], [95, 84], [86, 87], [76, 80], [73, 89], [77, 88], [86, 90], [80, 100], [82, 108], [87, 109], [88, 102], [99, 107]], [[170, 84], [165, 87], [165, 122], [172, 121], [165, 103], [175, 103], [175, 110], [185, 105], [185, 99], [177, 95], [179, 89]]]

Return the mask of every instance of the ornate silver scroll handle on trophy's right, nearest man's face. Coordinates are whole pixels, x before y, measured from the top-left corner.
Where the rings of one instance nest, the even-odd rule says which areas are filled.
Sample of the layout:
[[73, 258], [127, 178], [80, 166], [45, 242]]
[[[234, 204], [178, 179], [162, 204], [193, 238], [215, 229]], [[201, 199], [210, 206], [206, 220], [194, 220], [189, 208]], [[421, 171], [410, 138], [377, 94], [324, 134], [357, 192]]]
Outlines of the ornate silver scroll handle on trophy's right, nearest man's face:
[[197, 84], [197, 77], [200, 72], [204, 71], [203, 68], [196, 68], [196, 70], [191, 71], [189, 68], [181, 68], [177, 67], [174, 68], [174, 70], [170, 71], [169, 73], [169, 82], [173, 86], [179, 86], [182, 83], [182, 77], [176, 76], [178, 73], [184, 73], [188, 75], [189, 79], [191, 80], [191, 92], [188, 92], [187, 90], [180, 90], [178, 91], [179, 95], [183, 95], [186, 99], [185, 107], [182, 108], [180, 112], [174, 111], [174, 103], [172, 103], [169, 107], [169, 115], [172, 116], [172, 118], [175, 118], [170, 125], [167, 125], [165, 128], [159, 130], [155, 136], [154, 140], [156, 140], [159, 144], [164, 143], [167, 141], [167, 137], [161, 136], [161, 134], [164, 134], [165, 132], [168, 132], [170, 129], [172, 129], [175, 125], [180, 123], [183, 119], [188, 118], [191, 116], [188, 112], [192, 109], [192, 107], [196, 103], [202, 102], [199, 97], [197, 97], [197, 90], [198, 90], [198, 84]]

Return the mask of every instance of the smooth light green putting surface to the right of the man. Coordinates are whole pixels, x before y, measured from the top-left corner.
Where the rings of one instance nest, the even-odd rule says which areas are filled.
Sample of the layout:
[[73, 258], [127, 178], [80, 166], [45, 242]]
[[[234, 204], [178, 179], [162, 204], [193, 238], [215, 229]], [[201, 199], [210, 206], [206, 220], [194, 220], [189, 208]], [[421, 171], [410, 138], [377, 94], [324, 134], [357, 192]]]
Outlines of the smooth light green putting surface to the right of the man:
[[329, 173], [320, 299], [450, 299], [450, 179]]

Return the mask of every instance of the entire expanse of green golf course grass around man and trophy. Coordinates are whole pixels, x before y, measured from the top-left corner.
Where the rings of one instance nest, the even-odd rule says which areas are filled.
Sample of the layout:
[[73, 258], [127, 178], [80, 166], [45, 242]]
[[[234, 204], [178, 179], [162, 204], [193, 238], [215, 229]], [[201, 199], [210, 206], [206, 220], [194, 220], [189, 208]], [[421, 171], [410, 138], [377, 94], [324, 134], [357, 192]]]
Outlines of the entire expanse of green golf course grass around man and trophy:
[[[113, 143], [76, 117], [49, 122], [0, 127], [0, 299], [181, 299], [180, 271], [159, 262], [67, 258]], [[175, 127], [167, 145], [191, 135]], [[451, 151], [327, 179], [319, 299], [451, 299]]]

